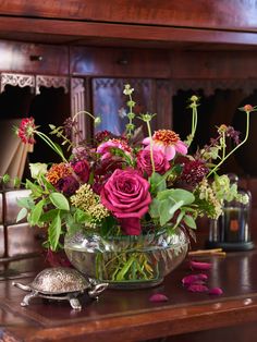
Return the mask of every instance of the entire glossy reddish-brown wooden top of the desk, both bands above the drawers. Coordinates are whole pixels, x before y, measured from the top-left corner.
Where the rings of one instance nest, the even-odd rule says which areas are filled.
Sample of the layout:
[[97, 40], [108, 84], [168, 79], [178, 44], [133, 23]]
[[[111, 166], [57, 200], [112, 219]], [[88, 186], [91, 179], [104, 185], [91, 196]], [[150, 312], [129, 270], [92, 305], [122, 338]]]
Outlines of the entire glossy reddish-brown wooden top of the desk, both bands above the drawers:
[[257, 9], [248, 0], [2, 0], [0, 17], [2, 39], [33, 42], [186, 50], [257, 42]]

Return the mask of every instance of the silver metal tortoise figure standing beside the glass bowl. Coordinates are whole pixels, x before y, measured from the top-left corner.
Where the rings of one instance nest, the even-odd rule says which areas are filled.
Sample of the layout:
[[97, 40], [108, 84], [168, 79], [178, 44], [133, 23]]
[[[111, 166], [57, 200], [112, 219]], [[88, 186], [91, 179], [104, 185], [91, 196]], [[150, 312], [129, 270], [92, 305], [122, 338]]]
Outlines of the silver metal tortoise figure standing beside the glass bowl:
[[82, 305], [77, 298], [86, 292], [89, 297], [97, 298], [106, 290], [108, 283], [97, 283], [86, 279], [78, 271], [66, 267], [53, 267], [42, 270], [29, 284], [12, 283], [24, 291], [29, 291], [21, 305], [27, 306], [34, 297], [47, 300], [69, 301], [72, 308], [79, 310]]

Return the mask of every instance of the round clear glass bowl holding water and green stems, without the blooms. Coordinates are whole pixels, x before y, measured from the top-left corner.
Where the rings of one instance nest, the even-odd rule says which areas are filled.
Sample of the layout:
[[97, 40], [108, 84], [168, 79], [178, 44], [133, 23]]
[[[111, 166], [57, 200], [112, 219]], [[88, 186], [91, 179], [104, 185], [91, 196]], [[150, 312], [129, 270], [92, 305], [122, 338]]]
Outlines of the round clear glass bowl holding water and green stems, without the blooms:
[[160, 284], [185, 258], [188, 237], [178, 229], [172, 235], [146, 234], [103, 239], [95, 232], [66, 234], [64, 249], [71, 264], [110, 288], [135, 289]]

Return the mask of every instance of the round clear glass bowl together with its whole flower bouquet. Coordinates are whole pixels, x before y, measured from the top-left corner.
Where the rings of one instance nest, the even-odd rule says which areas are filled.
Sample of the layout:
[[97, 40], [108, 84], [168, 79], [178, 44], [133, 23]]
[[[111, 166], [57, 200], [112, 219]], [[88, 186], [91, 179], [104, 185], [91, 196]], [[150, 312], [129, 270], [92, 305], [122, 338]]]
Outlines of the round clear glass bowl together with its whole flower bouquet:
[[[35, 144], [38, 136], [60, 157], [59, 163], [30, 164], [30, 190], [22, 198], [17, 220], [27, 217], [32, 225], [47, 230], [44, 243], [49, 251], [64, 251], [79, 271], [117, 288], [159, 284], [185, 258], [189, 239], [195, 236], [196, 219], [218, 219], [224, 200], [246, 198], [237, 194], [220, 166], [244, 144], [249, 131], [249, 113], [256, 108], [241, 108], [246, 114], [246, 136], [222, 124], [217, 137], [194, 155], [188, 148], [197, 129], [198, 98], [189, 99], [192, 131], [185, 142], [171, 130], [151, 132], [154, 114], [139, 119], [148, 136], [138, 141], [133, 111], [134, 89], [127, 84], [126, 131], [122, 136], [98, 132], [91, 143], [74, 145], [77, 115], [63, 126], [50, 126], [59, 144], [40, 132], [33, 118], [23, 119], [16, 133], [24, 143]], [[227, 139], [234, 148], [227, 152]]]

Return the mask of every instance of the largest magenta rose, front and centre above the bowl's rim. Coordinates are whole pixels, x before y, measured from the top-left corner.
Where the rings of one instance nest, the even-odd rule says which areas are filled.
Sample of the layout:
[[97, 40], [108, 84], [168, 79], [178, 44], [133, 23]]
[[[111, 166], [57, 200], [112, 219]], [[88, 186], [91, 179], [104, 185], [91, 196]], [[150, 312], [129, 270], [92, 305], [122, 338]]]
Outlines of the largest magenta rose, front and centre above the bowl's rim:
[[103, 185], [101, 203], [121, 222], [127, 235], [140, 234], [139, 219], [148, 211], [149, 183], [133, 169], [117, 169]]

